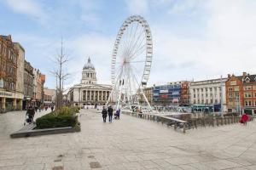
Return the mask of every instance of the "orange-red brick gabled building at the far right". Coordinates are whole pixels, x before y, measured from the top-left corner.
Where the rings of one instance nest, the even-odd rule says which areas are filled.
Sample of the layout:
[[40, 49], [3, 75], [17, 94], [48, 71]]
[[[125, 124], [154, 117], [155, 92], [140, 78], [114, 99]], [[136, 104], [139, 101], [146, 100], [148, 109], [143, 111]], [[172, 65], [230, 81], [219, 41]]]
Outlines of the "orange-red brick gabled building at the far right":
[[256, 75], [243, 72], [236, 77], [229, 74], [225, 87], [229, 112], [256, 114]]

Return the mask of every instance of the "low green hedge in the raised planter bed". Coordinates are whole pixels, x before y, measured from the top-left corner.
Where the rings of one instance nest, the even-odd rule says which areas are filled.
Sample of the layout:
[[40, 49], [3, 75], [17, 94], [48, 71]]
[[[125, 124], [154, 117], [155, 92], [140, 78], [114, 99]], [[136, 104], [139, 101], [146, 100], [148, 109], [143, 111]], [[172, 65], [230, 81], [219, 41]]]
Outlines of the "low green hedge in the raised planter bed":
[[55, 116], [49, 113], [39, 117], [36, 124], [37, 128], [74, 127], [77, 122], [77, 116]]

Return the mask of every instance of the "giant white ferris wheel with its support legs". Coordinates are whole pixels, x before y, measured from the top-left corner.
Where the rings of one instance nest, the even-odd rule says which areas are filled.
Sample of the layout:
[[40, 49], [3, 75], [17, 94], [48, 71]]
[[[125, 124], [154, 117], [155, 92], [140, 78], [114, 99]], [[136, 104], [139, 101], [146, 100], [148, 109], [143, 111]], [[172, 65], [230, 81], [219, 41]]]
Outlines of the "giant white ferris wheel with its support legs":
[[129, 17], [120, 27], [113, 46], [113, 90], [108, 102], [112, 98], [116, 108], [131, 109], [132, 105], [142, 105], [144, 101], [144, 105], [152, 111], [142, 89], [147, 86], [152, 55], [153, 42], [147, 21], [140, 15]]

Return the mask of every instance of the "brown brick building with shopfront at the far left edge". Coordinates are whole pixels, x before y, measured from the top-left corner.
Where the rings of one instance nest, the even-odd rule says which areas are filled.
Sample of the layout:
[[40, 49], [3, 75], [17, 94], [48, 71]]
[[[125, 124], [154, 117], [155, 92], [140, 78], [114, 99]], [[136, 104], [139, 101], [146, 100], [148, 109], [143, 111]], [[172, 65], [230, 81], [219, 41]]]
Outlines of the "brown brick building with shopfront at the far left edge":
[[[20, 109], [23, 94], [16, 92], [17, 88], [17, 60], [22, 57], [19, 49], [15, 48], [11, 36], [0, 36], [0, 110], [12, 111]], [[22, 59], [21, 59], [22, 60]], [[18, 89], [20, 91], [20, 81]], [[18, 102], [18, 106], [17, 106]]]

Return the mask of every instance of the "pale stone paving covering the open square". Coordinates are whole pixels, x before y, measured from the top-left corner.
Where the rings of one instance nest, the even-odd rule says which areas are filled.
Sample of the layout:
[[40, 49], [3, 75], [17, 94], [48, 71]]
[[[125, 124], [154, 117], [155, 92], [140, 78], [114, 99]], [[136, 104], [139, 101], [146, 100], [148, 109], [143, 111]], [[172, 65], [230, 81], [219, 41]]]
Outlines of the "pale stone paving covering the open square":
[[82, 110], [80, 133], [10, 139], [24, 117], [0, 115], [0, 170], [256, 169], [256, 122], [178, 133], [125, 115], [103, 123], [96, 111]]

